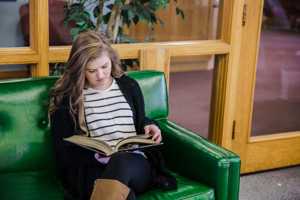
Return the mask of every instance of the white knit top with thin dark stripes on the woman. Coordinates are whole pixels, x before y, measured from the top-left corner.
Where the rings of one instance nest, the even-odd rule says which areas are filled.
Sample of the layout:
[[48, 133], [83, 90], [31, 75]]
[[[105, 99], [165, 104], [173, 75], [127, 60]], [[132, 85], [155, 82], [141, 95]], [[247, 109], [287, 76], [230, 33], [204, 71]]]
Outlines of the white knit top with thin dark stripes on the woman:
[[106, 90], [88, 88], [83, 94], [85, 117], [92, 138], [115, 147], [121, 139], [137, 135], [133, 112], [115, 79]]

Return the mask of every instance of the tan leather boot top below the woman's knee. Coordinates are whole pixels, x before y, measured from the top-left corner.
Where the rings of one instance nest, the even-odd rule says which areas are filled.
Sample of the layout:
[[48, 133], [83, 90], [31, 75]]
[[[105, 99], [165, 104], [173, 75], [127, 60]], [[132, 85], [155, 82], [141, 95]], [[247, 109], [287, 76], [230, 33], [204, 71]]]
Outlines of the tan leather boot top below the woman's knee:
[[90, 200], [125, 200], [130, 189], [120, 181], [97, 179]]

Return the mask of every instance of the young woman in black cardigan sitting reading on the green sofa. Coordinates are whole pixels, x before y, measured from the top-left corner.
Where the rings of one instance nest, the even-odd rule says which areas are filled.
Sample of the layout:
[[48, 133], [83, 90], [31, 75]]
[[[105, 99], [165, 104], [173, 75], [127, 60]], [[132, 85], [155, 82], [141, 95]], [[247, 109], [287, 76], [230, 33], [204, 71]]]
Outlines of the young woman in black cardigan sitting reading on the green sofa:
[[[155, 148], [103, 157], [63, 140], [82, 135], [112, 147], [136, 134], [151, 133], [156, 142], [162, 140], [157, 122], [145, 115], [140, 86], [121, 70], [118, 53], [102, 34], [88, 30], [76, 38], [65, 71], [50, 88], [50, 95], [48, 117], [55, 156], [66, 169], [65, 199], [89, 199], [96, 179], [101, 179], [100, 186], [107, 193], [125, 191], [126, 196], [129, 191], [127, 199], [154, 188], [177, 188]], [[118, 183], [116, 191], [106, 188], [112, 180]]]

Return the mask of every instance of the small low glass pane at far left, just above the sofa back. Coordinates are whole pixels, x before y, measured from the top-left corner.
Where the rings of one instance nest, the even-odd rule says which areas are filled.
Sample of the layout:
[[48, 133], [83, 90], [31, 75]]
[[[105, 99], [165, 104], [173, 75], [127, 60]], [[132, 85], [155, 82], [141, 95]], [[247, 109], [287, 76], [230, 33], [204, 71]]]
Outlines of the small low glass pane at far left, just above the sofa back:
[[29, 77], [29, 65], [0, 65], [0, 80]]

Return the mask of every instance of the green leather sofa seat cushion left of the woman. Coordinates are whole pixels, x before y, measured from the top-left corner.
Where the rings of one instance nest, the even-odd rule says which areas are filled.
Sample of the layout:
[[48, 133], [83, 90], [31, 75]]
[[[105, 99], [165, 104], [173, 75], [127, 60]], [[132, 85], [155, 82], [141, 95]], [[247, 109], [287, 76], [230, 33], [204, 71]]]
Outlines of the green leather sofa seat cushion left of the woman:
[[66, 191], [48, 170], [0, 174], [0, 199], [63, 199]]

